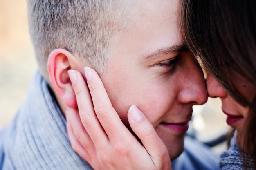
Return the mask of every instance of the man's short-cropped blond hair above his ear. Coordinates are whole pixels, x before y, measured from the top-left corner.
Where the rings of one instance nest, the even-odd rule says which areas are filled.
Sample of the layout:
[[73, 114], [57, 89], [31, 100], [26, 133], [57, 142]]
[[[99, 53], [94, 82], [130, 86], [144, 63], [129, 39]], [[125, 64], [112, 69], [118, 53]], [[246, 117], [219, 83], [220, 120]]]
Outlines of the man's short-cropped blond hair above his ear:
[[132, 22], [127, 0], [27, 0], [29, 32], [43, 76], [49, 54], [63, 48], [106, 72], [110, 45]]

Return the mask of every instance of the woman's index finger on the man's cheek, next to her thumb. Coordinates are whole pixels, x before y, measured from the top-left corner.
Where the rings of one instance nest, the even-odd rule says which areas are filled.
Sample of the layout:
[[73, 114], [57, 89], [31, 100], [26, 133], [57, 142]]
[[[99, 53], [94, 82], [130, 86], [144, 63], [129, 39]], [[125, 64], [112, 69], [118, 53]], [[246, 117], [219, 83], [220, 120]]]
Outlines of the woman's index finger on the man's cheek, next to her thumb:
[[[93, 106], [97, 117], [110, 141], [117, 140], [117, 136], [131, 135], [124, 126], [117, 112], [112, 107], [106, 89], [94, 69], [85, 67], [85, 77], [92, 96]], [[126, 136], [127, 137], [127, 136]]]

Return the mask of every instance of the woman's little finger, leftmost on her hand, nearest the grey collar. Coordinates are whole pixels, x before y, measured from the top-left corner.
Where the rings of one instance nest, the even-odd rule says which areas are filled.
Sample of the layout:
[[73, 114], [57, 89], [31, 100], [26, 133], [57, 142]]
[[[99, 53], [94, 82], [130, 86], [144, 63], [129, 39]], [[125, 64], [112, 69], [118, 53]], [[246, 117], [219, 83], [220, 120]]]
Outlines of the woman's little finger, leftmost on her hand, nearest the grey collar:
[[76, 138], [76, 135], [74, 133], [74, 130], [72, 128], [72, 124], [70, 122], [70, 116], [67, 113], [66, 114], [66, 120], [67, 120], [67, 135], [70, 139], [71, 146], [75, 152], [77, 152], [83, 159], [90, 160], [91, 157], [88, 154], [87, 150], [84, 148], [84, 146], [79, 142], [79, 140]]

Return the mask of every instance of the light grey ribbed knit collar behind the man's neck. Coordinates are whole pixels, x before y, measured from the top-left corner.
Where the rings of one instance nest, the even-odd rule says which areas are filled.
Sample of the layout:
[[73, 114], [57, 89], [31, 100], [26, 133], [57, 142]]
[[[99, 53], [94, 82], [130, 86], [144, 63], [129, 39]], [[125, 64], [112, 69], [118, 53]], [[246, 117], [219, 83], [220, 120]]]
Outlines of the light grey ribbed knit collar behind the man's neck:
[[65, 119], [39, 71], [11, 124], [5, 150], [14, 170], [91, 169], [71, 148]]

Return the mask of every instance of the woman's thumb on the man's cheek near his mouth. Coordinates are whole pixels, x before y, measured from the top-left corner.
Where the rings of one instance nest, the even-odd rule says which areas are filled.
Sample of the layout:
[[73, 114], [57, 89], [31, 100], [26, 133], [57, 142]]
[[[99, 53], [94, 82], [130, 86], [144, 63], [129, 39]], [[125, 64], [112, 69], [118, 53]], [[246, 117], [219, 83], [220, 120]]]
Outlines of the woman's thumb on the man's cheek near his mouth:
[[128, 121], [133, 132], [139, 137], [153, 159], [165, 157], [165, 160], [170, 161], [167, 148], [162, 139], [157, 135], [155, 128], [146, 116], [135, 105], [132, 105], [128, 111]]

